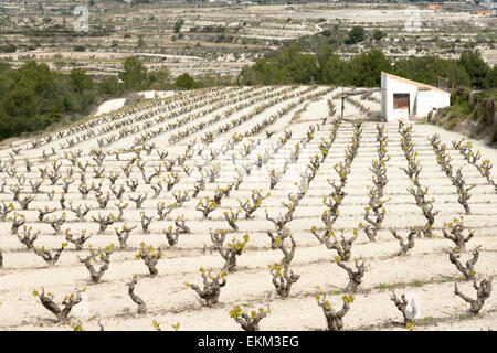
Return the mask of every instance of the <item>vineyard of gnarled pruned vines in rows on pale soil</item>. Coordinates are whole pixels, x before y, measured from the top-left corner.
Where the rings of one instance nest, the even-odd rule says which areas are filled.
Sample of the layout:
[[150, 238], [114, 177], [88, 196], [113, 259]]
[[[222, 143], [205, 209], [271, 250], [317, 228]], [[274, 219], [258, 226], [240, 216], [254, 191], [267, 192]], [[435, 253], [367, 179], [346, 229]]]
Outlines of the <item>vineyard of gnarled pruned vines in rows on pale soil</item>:
[[184, 92], [0, 150], [0, 329], [495, 329], [497, 153], [340, 94]]

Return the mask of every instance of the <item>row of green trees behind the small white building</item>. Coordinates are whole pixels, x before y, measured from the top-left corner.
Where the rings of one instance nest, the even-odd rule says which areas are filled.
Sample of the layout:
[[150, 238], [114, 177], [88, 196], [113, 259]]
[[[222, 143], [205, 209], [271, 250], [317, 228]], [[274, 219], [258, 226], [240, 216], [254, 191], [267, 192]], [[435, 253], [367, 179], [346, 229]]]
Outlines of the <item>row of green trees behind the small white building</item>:
[[433, 86], [437, 86], [438, 77], [447, 78], [451, 87], [497, 86], [495, 66], [490, 68], [478, 52], [464, 52], [459, 60], [412, 56], [392, 63], [381, 51], [373, 49], [346, 61], [330, 44], [321, 45], [317, 54], [305, 54], [296, 44], [286, 46], [273, 56], [245, 66], [239, 82], [243, 85], [320, 83], [373, 87], [380, 85], [382, 71]]

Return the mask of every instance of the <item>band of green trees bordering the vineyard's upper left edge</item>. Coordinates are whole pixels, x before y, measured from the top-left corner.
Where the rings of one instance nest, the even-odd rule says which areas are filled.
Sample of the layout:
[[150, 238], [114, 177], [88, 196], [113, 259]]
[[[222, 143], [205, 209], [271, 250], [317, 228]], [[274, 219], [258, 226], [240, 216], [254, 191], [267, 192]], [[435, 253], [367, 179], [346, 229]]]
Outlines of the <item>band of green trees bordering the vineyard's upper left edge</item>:
[[82, 68], [63, 74], [34, 61], [18, 69], [0, 63], [0, 140], [75, 121], [96, 104], [127, 92], [171, 86], [167, 68], [149, 73], [136, 57], [125, 61], [119, 78], [121, 83], [115, 76], [97, 82]]

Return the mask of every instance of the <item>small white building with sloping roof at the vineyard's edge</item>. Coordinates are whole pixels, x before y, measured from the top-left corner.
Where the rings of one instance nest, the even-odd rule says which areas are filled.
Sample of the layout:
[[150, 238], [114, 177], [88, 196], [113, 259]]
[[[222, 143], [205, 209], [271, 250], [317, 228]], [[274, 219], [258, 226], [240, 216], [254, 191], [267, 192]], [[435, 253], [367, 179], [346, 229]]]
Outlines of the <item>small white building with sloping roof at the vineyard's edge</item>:
[[450, 105], [446, 90], [381, 73], [381, 116], [387, 121], [425, 117], [434, 108]]

